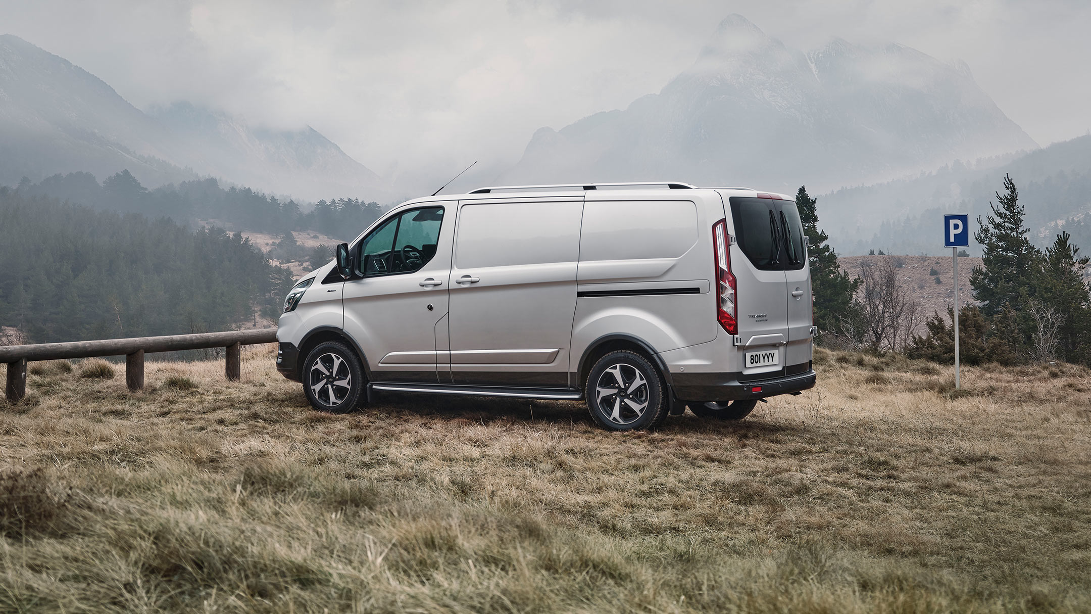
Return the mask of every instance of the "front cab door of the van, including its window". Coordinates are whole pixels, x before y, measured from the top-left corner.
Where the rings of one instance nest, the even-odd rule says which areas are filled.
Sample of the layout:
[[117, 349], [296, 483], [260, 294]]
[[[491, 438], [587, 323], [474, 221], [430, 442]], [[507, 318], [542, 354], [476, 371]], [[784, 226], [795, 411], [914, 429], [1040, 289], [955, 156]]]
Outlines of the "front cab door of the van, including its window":
[[[367, 355], [372, 381], [440, 382], [446, 362], [447, 276], [454, 202], [392, 216], [353, 247], [345, 282], [345, 332]], [[446, 374], [444, 374], [446, 376]], [[444, 380], [446, 382], [446, 380]]]

